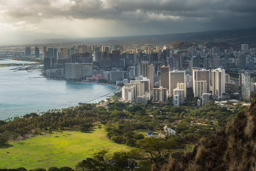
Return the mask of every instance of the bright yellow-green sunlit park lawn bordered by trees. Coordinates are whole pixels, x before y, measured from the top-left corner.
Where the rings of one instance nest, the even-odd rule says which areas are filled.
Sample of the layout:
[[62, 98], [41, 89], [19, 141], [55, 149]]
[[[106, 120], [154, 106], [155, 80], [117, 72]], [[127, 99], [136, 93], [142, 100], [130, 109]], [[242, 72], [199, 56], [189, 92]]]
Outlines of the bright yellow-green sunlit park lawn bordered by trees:
[[67, 129], [63, 133], [52, 132], [51, 136], [45, 133], [17, 143], [10, 142], [8, 144], [13, 146], [0, 149], [0, 168], [75, 168], [78, 162], [92, 157], [100, 149], [107, 148], [110, 152], [131, 149], [127, 145], [113, 143], [106, 135], [103, 128], [94, 127], [90, 133]]

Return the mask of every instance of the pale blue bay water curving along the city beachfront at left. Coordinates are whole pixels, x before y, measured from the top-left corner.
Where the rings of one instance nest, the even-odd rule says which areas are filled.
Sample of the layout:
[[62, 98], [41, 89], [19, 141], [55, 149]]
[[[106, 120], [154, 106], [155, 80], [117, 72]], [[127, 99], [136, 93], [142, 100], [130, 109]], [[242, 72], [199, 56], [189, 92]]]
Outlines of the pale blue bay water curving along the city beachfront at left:
[[40, 76], [40, 71], [10, 70], [13, 68], [17, 67], [0, 67], [0, 120], [76, 106], [79, 102], [95, 103], [117, 90], [110, 86], [47, 79]]

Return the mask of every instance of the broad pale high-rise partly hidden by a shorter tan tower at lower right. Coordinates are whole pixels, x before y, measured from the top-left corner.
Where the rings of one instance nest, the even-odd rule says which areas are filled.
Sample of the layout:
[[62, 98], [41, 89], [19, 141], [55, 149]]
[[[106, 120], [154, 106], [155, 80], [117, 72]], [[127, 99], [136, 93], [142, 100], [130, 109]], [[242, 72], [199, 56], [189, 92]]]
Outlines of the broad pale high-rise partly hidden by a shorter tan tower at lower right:
[[185, 71], [170, 71], [169, 72], [169, 94], [173, 93], [173, 89], [177, 87], [177, 83], [186, 83]]

